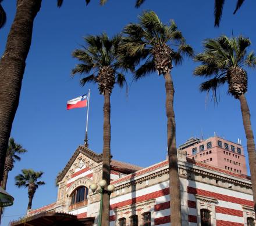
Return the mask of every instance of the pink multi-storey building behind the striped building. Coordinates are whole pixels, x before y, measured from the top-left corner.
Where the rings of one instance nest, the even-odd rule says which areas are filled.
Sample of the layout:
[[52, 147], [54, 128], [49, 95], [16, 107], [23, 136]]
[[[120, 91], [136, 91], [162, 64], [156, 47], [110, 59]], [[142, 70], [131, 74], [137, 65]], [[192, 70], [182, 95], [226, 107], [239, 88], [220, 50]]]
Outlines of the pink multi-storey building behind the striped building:
[[190, 138], [180, 145], [179, 150], [187, 152], [187, 157], [217, 166], [233, 173], [247, 174], [246, 158], [241, 144], [221, 137], [210, 137], [206, 140]]

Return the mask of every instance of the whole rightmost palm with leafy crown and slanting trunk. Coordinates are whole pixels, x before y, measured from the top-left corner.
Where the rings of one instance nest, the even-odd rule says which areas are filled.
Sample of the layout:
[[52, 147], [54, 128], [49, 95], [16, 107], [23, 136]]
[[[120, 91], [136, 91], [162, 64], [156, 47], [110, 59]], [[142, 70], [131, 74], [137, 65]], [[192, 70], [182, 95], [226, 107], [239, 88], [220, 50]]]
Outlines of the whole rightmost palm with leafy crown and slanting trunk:
[[211, 78], [200, 86], [201, 92], [216, 91], [227, 83], [228, 93], [240, 101], [244, 130], [247, 138], [247, 151], [253, 185], [254, 210], [256, 210], [256, 172], [255, 172], [255, 143], [251, 129], [250, 110], [245, 93], [247, 92], [247, 72], [243, 67], [255, 67], [254, 52], [247, 54], [251, 45], [250, 39], [243, 36], [227, 38], [225, 35], [204, 42], [204, 51], [195, 56], [195, 61], [201, 65], [195, 68], [194, 74]]

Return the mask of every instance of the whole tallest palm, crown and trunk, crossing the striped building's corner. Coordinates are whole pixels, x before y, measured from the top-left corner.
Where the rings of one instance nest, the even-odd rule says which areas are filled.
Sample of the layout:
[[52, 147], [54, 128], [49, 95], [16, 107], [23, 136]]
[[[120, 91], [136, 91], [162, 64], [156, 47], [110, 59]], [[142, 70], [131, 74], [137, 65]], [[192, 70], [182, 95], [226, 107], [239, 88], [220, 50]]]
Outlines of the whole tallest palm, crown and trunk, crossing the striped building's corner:
[[187, 45], [182, 32], [172, 21], [163, 24], [153, 11], [144, 12], [138, 17], [138, 24], [128, 24], [123, 33], [120, 54], [126, 64], [137, 65], [134, 79], [144, 78], [151, 72], [158, 72], [165, 79], [166, 116], [167, 116], [167, 144], [169, 156], [170, 178], [170, 221], [172, 225], [181, 225], [180, 213], [180, 183], [177, 164], [176, 127], [173, 111], [174, 88], [170, 71], [175, 65], [182, 63], [183, 55], [193, 56], [193, 49]]

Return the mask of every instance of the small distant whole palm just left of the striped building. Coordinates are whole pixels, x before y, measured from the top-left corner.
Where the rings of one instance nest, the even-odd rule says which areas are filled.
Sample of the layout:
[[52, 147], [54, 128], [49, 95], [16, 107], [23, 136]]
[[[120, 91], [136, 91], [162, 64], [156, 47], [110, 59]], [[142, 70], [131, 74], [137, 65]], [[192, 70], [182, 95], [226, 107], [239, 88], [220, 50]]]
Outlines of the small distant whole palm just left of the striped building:
[[15, 177], [15, 185], [18, 188], [28, 188], [29, 204], [27, 205], [27, 210], [31, 209], [34, 194], [38, 186], [45, 184], [44, 181], [37, 181], [39, 178], [41, 178], [42, 174], [44, 174], [44, 172], [35, 172], [33, 169], [23, 169], [22, 173]]

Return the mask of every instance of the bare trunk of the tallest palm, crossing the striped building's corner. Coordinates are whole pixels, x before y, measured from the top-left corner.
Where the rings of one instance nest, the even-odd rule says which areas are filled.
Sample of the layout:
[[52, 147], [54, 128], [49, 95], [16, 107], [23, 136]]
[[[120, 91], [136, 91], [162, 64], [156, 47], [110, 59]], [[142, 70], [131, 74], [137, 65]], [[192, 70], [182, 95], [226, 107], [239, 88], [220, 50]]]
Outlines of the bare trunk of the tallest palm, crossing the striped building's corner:
[[170, 222], [172, 225], [182, 225], [181, 201], [180, 201], [180, 181], [176, 148], [176, 125], [173, 111], [174, 88], [172, 76], [169, 72], [165, 75], [166, 93], [166, 116], [167, 116], [167, 144], [169, 160], [169, 191], [170, 191]]

